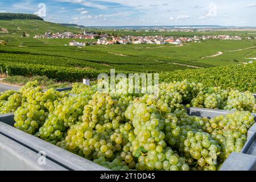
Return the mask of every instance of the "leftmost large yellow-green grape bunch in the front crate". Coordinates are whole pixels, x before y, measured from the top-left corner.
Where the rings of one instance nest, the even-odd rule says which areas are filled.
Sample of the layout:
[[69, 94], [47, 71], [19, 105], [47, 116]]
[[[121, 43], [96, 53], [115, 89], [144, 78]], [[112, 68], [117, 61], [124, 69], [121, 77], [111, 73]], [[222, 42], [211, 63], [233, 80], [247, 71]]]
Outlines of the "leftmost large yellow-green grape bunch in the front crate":
[[[29, 83], [31, 84], [31, 83]], [[53, 103], [67, 95], [65, 92], [58, 92], [49, 89], [42, 91], [40, 86], [32, 83], [22, 88], [22, 105], [14, 113], [14, 126], [30, 134], [35, 134], [39, 127], [47, 121], [49, 111], [53, 109]]]

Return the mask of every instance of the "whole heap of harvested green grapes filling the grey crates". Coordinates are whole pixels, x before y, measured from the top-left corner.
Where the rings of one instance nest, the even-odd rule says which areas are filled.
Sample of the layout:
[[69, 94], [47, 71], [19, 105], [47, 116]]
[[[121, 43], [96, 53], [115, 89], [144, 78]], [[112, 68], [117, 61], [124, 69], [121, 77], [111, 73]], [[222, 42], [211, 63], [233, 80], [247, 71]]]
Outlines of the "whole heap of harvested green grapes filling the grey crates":
[[[158, 95], [129, 93], [125, 81], [114, 93], [97, 91], [103, 81], [71, 92], [31, 82], [20, 89], [15, 127], [113, 170], [217, 170], [242, 150], [254, 123], [251, 93], [186, 80], [160, 84]], [[184, 105], [237, 111], [208, 119]]]

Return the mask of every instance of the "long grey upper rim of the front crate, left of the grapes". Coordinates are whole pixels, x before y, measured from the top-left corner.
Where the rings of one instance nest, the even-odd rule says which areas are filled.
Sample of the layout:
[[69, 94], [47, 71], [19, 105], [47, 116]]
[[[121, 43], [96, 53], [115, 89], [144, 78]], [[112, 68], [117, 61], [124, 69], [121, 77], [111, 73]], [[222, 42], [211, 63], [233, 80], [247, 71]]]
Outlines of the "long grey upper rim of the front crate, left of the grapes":
[[88, 159], [82, 158], [79, 155], [73, 154], [63, 148], [57, 147], [54, 144], [46, 142], [33, 135], [27, 134], [13, 127], [14, 115], [5, 114], [0, 117], [0, 134], [8, 136], [10, 139], [30, 148], [35, 152], [44, 151], [46, 157], [53, 162], [60, 164], [69, 170], [79, 171], [108, 171], [108, 168], [100, 166]]

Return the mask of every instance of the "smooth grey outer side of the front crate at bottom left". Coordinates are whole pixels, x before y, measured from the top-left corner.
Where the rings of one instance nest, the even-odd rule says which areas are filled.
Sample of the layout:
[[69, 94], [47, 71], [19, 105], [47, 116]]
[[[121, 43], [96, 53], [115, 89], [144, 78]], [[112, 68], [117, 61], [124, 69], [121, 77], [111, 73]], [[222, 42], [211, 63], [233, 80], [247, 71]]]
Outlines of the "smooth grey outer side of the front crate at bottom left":
[[[0, 134], [0, 171], [1, 170], [67, 170], [63, 166], [44, 158], [35, 151], [16, 143]], [[40, 159], [41, 158], [41, 159]]]

